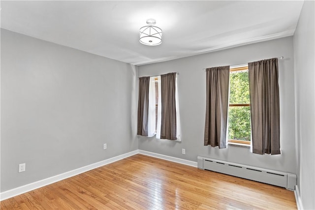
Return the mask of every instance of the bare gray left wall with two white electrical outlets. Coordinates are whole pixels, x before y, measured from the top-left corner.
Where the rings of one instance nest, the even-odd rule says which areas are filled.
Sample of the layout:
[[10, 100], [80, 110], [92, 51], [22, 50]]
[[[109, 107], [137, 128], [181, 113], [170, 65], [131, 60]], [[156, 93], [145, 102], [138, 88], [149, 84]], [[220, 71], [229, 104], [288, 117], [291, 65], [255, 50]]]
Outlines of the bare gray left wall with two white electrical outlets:
[[1, 192], [137, 150], [136, 72], [1, 29]]

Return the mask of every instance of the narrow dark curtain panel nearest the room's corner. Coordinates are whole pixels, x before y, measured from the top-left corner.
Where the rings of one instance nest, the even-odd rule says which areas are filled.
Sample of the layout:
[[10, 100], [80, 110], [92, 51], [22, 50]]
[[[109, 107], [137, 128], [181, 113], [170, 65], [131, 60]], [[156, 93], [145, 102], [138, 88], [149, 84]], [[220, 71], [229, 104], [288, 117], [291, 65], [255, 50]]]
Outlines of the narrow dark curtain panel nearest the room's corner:
[[137, 134], [148, 136], [150, 77], [139, 78], [138, 130]]

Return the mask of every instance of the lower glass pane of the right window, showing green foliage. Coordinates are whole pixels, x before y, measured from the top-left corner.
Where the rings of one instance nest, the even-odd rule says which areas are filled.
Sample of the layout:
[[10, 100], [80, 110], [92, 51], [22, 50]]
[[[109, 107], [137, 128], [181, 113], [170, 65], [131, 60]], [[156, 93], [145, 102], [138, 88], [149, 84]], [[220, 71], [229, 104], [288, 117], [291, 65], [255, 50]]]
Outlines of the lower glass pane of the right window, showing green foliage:
[[251, 108], [229, 107], [228, 139], [251, 141]]

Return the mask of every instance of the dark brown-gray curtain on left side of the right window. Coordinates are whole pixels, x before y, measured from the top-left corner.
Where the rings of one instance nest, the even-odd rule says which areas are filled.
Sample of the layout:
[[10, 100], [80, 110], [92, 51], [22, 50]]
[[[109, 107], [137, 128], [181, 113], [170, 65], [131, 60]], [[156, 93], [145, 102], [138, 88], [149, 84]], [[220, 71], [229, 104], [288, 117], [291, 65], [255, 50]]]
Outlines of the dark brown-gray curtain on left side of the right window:
[[230, 66], [206, 69], [206, 123], [204, 145], [226, 148]]

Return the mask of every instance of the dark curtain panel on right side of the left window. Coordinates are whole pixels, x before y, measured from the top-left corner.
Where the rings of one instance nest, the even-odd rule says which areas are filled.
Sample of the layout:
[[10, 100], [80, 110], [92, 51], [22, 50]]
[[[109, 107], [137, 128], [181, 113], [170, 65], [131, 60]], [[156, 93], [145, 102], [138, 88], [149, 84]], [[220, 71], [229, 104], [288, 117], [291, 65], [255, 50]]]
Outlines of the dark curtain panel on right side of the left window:
[[176, 73], [161, 75], [161, 139], [176, 140]]

